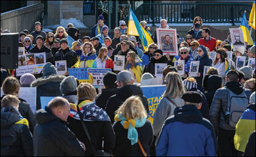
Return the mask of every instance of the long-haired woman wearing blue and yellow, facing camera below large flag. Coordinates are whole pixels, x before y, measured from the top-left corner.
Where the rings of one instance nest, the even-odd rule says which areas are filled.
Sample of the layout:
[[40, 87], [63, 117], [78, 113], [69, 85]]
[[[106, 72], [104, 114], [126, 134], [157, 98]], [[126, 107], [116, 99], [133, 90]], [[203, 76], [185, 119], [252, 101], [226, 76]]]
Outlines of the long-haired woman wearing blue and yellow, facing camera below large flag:
[[127, 62], [124, 65], [124, 69], [131, 72], [132, 78], [136, 83], [140, 83], [142, 67], [141, 64], [135, 60], [135, 55], [133, 51], [127, 53]]

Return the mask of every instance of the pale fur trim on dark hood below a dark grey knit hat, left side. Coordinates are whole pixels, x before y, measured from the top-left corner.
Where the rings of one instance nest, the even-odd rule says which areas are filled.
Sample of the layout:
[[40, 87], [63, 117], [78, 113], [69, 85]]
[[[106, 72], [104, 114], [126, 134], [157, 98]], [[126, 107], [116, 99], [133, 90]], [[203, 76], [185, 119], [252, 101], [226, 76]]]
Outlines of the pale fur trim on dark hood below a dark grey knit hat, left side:
[[31, 84], [30, 87], [38, 87], [43, 84], [49, 83], [49, 82], [61, 82], [62, 79], [66, 78], [64, 75], [49, 75], [49, 77], [41, 77], [36, 80], [34, 80]]

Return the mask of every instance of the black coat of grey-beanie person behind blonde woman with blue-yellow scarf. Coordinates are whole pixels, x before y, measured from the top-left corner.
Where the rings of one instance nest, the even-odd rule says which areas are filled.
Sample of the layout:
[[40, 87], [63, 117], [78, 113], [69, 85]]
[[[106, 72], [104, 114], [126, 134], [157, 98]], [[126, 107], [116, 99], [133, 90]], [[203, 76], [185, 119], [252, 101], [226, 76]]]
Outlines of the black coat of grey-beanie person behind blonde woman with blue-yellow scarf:
[[127, 98], [129, 98], [132, 95], [140, 96], [143, 106], [145, 107], [145, 110], [148, 113], [148, 100], [143, 95], [142, 89], [140, 88], [140, 86], [137, 86], [135, 84], [129, 84], [119, 88], [116, 94], [111, 96], [107, 101], [105, 111], [107, 112], [112, 123], [115, 122], [115, 111], [121, 106], [121, 104], [125, 102]]

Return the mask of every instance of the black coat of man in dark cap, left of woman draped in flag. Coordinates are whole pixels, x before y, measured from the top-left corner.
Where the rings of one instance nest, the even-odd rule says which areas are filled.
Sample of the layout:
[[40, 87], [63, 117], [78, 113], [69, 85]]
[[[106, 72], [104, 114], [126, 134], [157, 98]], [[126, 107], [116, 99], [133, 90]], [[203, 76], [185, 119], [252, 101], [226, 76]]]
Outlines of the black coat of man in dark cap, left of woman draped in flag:
[[65, 50], [58, 50], [55, 54], [55, 61], [63, 61], [66, 60], [66, 67], [72, 67], [77, 61], [76, 52], [71, 50], [70, 47], [66, 48]]

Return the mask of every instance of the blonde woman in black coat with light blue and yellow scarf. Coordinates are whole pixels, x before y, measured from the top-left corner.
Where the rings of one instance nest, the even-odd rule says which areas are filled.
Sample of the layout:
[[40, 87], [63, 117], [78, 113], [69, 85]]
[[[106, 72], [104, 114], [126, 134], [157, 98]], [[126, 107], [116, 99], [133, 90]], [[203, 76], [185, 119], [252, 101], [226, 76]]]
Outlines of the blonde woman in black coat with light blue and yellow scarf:
[[147, 120], [147, 111], [139, 96], [131, 96], [125, 100], [116, 111], [115, 121], [113, 129], [116, 134], [116, 146], [113, 155], [149, 155], [153, 128]]

